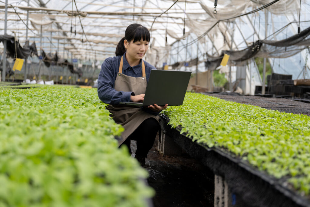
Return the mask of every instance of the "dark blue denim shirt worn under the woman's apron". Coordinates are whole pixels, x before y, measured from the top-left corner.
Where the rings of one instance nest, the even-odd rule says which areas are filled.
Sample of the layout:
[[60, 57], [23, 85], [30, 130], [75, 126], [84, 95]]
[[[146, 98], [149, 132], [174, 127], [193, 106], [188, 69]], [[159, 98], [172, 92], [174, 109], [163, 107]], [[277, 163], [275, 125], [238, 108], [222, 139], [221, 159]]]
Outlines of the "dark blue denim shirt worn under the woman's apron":
[[[122, 73], [135, 78], [142, 77], [142, 61], [140, 61], [139, 65], [131, 67], [126, 60], [125, 54], [123, 55]], [[114, 105], [119, 104], [119, 102], [130, 102], [131, 95], [139, 95], [134, 94], [134, 92], [117, 91], [114, 89], [114, 83], [119, 70], [121, 58], [121, 55], [108, 57], [101, 65], [101, 70], [98, 76], [98, 97], [104, 103]], [[151, 70], [156, 70], [156, 68], [146, 61], [144, 61], [144, 65], [145, 76], [148, 82]], [[158, 112], [154, 112], [145, 107], [142, 107], [142, 109], [153, 115], [159, 114]]]

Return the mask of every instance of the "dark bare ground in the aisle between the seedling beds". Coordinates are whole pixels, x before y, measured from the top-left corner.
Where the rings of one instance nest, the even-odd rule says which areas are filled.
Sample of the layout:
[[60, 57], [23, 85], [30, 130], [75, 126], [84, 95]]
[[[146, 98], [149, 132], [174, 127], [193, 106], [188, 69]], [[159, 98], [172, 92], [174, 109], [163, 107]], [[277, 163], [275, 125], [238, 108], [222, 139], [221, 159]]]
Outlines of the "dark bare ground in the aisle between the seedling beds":
[[[134, 157], [135, 141], [131, 149]], [[214, 206], [214, 174], [186, 153], [164, 156], [153, 147], [145, 161], [148, 185], [156, 191], [154, 206]]]

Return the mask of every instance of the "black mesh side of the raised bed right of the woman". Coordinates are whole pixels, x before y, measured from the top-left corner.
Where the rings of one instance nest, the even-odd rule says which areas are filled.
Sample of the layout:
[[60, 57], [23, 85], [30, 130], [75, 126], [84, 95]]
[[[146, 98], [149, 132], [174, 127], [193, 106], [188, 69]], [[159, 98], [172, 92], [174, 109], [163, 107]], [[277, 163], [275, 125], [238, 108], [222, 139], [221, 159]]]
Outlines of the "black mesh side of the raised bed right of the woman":
[[171, 128], [168, 117], [163, 114], [160, 117], [163, 133], [173, 138], [194, 159], [224, 177], [230, 191], [247, 206], [310, 207], [309, 197], [301, 196], [285, 178], [273, 178], [224, 149], [193, 142], [192, 137], [186, 137], [187, 133], [180, 134], [181, 127]]

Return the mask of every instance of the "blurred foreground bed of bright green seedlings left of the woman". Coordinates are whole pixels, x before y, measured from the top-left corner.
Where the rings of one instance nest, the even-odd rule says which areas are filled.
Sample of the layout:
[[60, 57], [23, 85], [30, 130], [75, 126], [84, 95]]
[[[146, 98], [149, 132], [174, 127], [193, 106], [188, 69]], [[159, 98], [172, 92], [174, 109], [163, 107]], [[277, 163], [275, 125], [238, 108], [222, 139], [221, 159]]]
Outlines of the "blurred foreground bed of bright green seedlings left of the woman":
[[[147, 172], [96, 89], [0, 88], [0, 206], [147, 206]], [[142, 179], [141, 179], [142, 178]]]

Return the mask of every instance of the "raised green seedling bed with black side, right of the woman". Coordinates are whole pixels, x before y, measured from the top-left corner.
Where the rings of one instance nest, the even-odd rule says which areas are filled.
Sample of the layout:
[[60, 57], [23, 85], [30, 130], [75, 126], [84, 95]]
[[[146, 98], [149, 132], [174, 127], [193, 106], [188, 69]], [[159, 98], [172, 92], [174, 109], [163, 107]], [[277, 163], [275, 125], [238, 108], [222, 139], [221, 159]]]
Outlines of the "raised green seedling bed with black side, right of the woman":
[[[248, 185], [253, 185], [254, 178], [259, 178], [258, 183], [263, 181], [263, 185], [268, 184], [266, 189], [275, 189], [272, 190], [273, 194], [263, 190], [257, 205], [250, 202], [249, 198], [255, 199], [259, 195], [259, 191], [262, 191], [259, 185], [252, 186], [252, 191], [250, 188], [245, 188], [247, 191], [239, 190], [237, 194], [243, 196], [243, 200], [249, 202], [248, 205], [310, 206], [310, 117], [193, 93], [187, 93], [182, 106], [171, 106], [164, 114], [170, 124], [166, 128], [176, 128], [171, 129], [173, 134], [170, 136], [181, 147], [189, 148], [185, 150], [206, 163], [215, 174], [224, 176], [232, 191], [238, 192], [238, 185], [233, 182], [239, 176], [231, 175], [229, 179], [227, 172], [238, 174], [239, 168], [250, 173]], [[215, 156], [219, 156], [216, 162], [212, 161]], [[236, 167], [231, 170], [225, 167], [225, 163]], [[239, 180], [245, 178], [241, 176]], [[276, 197], [286, 202], [280, 202], [281, 199]]]

